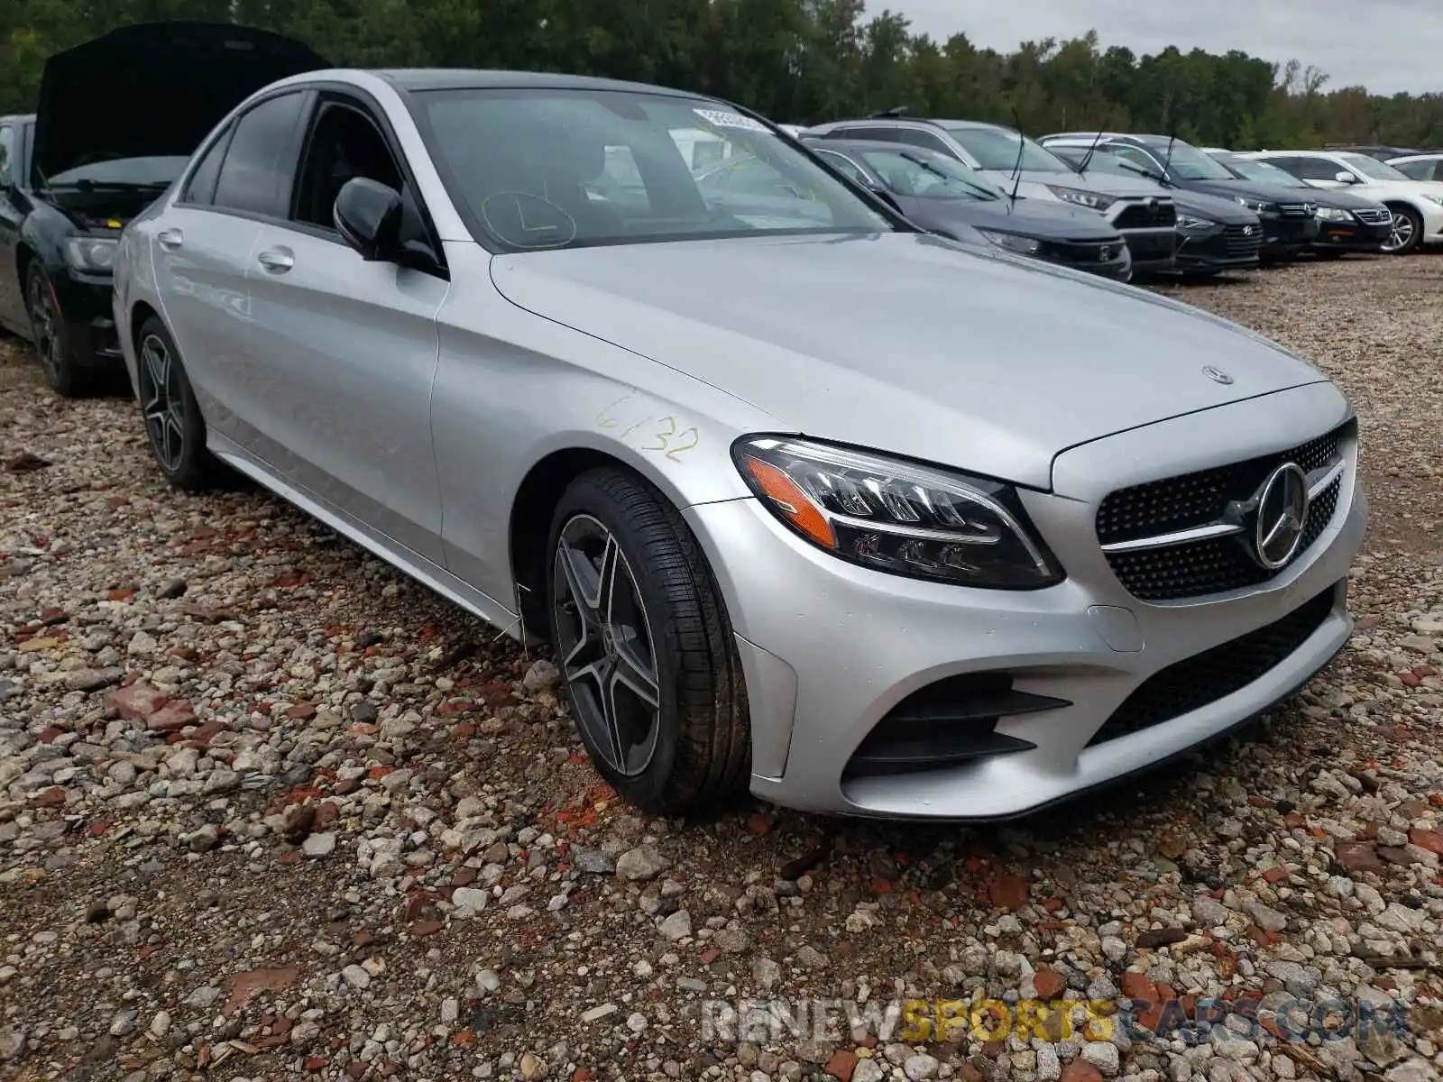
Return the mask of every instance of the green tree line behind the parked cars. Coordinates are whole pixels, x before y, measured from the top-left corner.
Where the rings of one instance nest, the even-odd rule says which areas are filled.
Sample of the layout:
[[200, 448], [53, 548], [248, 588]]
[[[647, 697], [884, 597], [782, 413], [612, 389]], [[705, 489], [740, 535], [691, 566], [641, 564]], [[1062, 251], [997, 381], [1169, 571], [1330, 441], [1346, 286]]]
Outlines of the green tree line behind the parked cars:
[[[0, 113], [33, 108], [45, 58], [115, 26], [232, 20], [300, 38], [338, 65], [567, 71], [714, 94], [779, 121], [896, 105], [916, 115], [1105, 127], [1237, 149], [1443, 144], [1443, 94], [1328, 88], [1299, 61], [1095, 33], [1001, 53], [913, 33], [863, 0], [3, 0]], [[102, 105], [100, 105], [102, 107]]]

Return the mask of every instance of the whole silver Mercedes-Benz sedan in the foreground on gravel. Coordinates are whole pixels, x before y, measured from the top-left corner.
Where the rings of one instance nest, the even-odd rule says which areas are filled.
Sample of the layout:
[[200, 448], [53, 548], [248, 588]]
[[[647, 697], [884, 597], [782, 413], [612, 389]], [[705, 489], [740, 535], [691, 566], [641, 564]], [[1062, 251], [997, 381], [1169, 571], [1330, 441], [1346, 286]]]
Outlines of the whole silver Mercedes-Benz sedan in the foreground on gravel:
[[130, 224], [114, 304], [175, 485], [250, 475], [550, 641], [649, 809], [1016, 815], [1255, 716], [1349, 633], [1332, 382], [921, 234], [726, 102], [294, 76]]

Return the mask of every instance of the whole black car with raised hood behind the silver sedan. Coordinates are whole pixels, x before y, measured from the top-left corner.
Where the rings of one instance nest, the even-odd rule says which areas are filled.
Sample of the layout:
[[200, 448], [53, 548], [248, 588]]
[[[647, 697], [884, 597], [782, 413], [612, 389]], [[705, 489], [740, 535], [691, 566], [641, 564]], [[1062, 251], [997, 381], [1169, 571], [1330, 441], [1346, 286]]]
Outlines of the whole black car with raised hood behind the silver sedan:
[[281, 35], [193, 22], [126, 26], [46, 61], [36, 113], [0, 117], [0, 326], [35, 342], [56, 391], [120, 369], [111, 263], [126, 222], [235, 105], [329, 66]]

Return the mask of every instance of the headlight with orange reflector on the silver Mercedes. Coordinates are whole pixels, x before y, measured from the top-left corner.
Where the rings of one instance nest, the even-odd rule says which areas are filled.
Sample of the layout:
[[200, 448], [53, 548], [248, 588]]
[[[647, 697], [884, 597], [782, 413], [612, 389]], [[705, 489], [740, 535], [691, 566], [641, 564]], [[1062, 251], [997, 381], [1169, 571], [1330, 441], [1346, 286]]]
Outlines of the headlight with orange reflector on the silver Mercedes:
[[1062, 580], [1010, 485], [786, 436], [743, 437], [732, 456], [768, 511], [848, 563], [1001, 590]]

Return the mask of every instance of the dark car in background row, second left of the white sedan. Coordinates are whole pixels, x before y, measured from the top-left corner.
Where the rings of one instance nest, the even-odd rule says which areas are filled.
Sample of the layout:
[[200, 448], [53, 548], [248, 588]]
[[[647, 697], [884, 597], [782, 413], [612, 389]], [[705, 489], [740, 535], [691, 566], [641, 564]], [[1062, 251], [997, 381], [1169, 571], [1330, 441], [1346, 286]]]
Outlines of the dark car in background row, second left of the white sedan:
[[1317, 239], [1317, 201], [1296, 188], [1241, 180], [1190, 143], [1167, 136], [1128, 136], [1110, 131], [1071, 131], [1039, 140], [1053, 153], [1062, 147], [1084, 153], [1097, 146], [1137, 163], [1157, 183], [1232, 199], [1263, 219], [1263, 258], [1277, 260], [1307, 251]]

